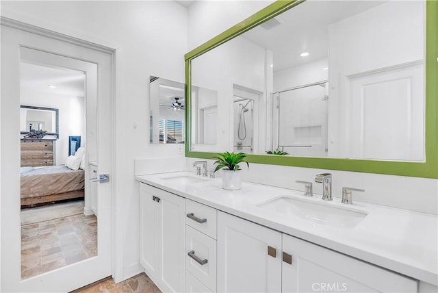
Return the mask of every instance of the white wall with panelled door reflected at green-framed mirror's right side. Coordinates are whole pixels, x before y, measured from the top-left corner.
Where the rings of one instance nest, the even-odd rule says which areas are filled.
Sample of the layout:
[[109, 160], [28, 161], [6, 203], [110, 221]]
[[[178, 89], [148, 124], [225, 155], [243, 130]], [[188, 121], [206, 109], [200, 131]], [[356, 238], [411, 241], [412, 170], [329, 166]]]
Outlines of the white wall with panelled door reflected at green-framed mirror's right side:
[[329, 48], [329, 155], [424, 160], [424, 1], [388, 1], [333, 23]]

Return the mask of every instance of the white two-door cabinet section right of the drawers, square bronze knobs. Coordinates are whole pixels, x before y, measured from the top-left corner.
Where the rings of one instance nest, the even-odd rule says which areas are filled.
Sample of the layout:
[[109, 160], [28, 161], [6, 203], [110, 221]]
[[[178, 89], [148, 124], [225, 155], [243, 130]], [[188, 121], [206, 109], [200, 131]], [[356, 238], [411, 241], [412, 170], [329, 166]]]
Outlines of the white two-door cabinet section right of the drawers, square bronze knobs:
[[417, 281], [218, 212], [218, 292], [417, 292]]

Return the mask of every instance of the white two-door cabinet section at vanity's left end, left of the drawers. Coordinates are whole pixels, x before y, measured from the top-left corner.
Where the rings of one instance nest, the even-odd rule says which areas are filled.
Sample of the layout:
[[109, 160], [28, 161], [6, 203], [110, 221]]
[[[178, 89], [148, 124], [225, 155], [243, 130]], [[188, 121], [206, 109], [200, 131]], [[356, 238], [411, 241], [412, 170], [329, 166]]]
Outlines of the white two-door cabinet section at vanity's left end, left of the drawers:
[[163, 292], [185, 290], [185, 200], [140, 183], [140, 264]]

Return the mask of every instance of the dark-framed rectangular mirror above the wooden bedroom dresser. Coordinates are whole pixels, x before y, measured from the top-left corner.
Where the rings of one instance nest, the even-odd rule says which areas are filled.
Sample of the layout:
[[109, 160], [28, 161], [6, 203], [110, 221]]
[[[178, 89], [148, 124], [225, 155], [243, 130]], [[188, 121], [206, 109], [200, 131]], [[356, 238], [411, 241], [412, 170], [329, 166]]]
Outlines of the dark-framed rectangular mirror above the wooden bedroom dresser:
[[21, 105], [20, 131], [27, 134], [31, 130], [47, 131], [45, 134], [59, 138], [60, 112], [55, 108]]

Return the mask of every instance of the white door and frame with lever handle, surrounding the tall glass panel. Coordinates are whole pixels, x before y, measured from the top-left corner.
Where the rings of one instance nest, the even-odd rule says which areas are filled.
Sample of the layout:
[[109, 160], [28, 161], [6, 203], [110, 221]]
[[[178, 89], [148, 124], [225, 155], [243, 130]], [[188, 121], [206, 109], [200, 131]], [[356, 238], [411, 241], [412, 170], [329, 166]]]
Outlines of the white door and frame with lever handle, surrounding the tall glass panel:
[[[86, 44], [55, 33], [2, 23], [1, 33], [1, 291], [5, 292], [68, 292], [93, 281], [112, 275], [112, 201], [114, 186], [114, 50]], [[51, 34], [51, 36], [48, 36]], [[54, 67], [70, 68], [85, 73], [86, 81], [86, 170], [87, 189], [89, 163], [97, 167], [97, 174], [110, 176], [110, 181], [96, 184], [99, 221], [96, 224], [97, 254], [79, 262], [55, 268], [40, 275], [21, 279], [21, 177], [19, 117], [20, 117], [20, 62], [29, 61]], [[35, 58], [35, 59], [32, 59]], [[4, 73], [8, 73], [5, 75]], [[90, 77], [90, 80], [88, 78]], [[94, 81], [92, 81], [94, 77]], [[99, 82], [98, 82], [99, 81]], [[93, 86], [94, 84], [94, 86]], [[95, 97], [94, 105], [89, 103]], [[60, 113], [61, 114], [61, 113]], [[91, 117], [94, 117], [94, 122]], [[6, 143], [8, 141], [8, 143]], [[92, 143], [95, 142], [95, 143]], [[84, 143], [84, 142], [82, 142]], [[87, 212], [90, 199], [85, 199]], [[75, 276], [72, 278], [72, 276]]]

